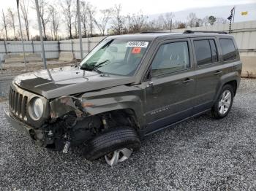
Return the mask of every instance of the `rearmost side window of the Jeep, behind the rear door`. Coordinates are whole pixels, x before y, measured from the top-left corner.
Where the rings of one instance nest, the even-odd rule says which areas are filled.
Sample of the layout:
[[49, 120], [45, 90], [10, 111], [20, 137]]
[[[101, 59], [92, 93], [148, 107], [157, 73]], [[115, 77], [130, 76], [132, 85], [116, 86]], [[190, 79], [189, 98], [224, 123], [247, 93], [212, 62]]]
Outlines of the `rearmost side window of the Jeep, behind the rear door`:
[[224, 61], [236, 59], [236, 48], [232, 39], [219, 39]]

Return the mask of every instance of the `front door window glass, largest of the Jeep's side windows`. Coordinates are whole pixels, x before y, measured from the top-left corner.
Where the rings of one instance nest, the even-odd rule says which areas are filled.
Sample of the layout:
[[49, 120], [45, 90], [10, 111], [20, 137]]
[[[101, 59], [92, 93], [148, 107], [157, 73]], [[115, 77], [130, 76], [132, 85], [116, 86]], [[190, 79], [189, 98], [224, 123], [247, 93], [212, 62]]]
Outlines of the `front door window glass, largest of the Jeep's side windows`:
[[190, 68], [187, 42], [162, 44], [154, 57], [151, 68], [152, 77]]

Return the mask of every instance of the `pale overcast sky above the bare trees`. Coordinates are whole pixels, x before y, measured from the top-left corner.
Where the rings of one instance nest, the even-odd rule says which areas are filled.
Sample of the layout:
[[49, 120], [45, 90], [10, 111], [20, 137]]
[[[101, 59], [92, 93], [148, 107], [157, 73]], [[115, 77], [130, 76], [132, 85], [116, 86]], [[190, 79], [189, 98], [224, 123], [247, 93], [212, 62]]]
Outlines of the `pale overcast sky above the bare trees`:
[[[35, 36], [38, 34], [37, 13], [35, 12], [34, 9], [31, 9], [31, 7], [33, 7], [34, 0], [29, 0], [29, 1], [30, 1], [29, 19], [31, 21], [29, 30], [30, 30], [30, 34], [32, 36]], [[48, 1], [51, 4], [59, 4], [59, 2], [63, 0], [45, 0], [45, 1]], [[122, 7], [121, 15], [127, 15], [128, 13], [129, 14], [138, 13], [140, 11], [143, 13], [143, 15], [154, 15], [154, 14], [165, 13], [165, 12], [178, 12], [184, 9], [193, 9], [193, 8], [200, 8], [200, 7], [219, 7], [219, 6], [228, 5], [231, 8], [234, 5], [238, 5], [238, 4], [255, 3], [255, 0], [178, 0], [178, 1], [174, 1], [174, 0], [126, 0], [126, 1], [125, 0], [91, 0], [86, 2], [90, 2], [92, 5], [94, 5], [94, 7], [97, 7], [97, 10], [107, 9], [109, 7], [114, 7], [115, 4], [121, 4], [121, 7]], [[7, 12], [8, 7], [11, 7], [12, 9], [16, 10], [17, 9], [16, 0], [0, 0], [0, 11], [4, 10], [4, 12]], [[203, 16], [206, 16], [206, 15], [203, 15]], [[181, 17], [176, 17], [176, 20], [181, 20]], [[1, 19], [0, 19], [0, 23], [1, 23]], [[61, 36], [66, 35], [65, 26], [63, 22], [61, 22], [59, 34], [61, 34]], [[12, 32], [11, 32], [11, 35], [12, 35]]]

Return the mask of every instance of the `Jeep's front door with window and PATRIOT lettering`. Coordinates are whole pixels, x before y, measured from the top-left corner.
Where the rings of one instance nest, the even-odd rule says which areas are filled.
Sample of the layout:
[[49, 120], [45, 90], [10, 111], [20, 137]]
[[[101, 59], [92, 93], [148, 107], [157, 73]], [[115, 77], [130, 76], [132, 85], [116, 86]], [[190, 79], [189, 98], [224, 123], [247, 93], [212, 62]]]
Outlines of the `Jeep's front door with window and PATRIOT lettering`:
[[191, 116], [195, 106], [195, 71], [189, 39], [159, 45], [146, 87], [146, 132]]

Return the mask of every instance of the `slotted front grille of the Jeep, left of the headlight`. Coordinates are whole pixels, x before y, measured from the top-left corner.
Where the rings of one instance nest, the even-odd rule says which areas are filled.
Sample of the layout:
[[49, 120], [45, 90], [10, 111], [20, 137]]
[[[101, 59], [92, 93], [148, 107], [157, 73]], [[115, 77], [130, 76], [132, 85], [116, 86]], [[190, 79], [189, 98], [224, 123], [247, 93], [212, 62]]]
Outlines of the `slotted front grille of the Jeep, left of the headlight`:
[[10, 109], [12, 110], [12, 114], [15, 114], [16, 117], [22, 120], [26, 120], [27, 104], [28, 96], [22, 95], [10, 88]]

